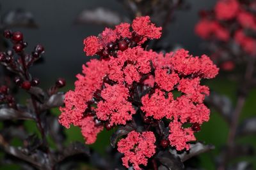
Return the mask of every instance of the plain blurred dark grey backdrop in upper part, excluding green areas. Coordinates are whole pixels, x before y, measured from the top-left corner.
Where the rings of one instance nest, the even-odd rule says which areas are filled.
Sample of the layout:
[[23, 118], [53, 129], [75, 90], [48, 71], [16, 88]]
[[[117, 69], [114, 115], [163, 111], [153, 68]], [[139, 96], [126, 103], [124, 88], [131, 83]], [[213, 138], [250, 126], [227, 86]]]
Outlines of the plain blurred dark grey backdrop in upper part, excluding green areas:
[[[81, 65], [92, 57], [83, 53], [83, 39], [97, 35], [104, 26], [76, 25], [74, 20], [82, 10], [99, 6], [109, 8], [124, 14], [122, 4], [116, 0], [1, 0], [1, 13], [16, 8], [31, 11], [35, 17], [38, 29], [14, 29], [24, 32], [29, 43], [28, 50], [40, 43], [45, 46], [44, 64], [33, 67], [33, 76], [54, 83], [55, 78], [66, 78], [68, 83], [76, 80], [75, 75], [81, 72]], [[180, 45], [194, 55], [205, 53], [200, 43], [202, 40], [194, 33], [198, 21], [198, 10], [210, 9], [214, 0], [193, 0], [187, 2], [191, 8], [186, 11], [175, 11], [175, 21], [168, 25], [167, 41], [172, 45]], [[49, 76], [51, 74], [51, 76]], [[44, 84], [44, 83], [43, 83]]]

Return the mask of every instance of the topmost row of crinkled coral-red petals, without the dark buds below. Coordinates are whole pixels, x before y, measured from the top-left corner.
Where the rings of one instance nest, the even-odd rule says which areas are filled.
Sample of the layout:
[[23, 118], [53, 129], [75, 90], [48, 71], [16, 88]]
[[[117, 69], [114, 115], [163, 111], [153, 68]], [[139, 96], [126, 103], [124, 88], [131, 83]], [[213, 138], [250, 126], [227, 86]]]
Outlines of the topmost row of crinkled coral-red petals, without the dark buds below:
[[[131, 28], [133, 31], [131, 31]], [[150, 17], [137, 17], [131, 24], [121, 23], [115, 29], [106, 28], [98, 37], [89, 36], [84, 39], [84, 52], [86, 55], [95, 55], [101, 50], [108, 50], [108, 43], [115, 43], [124, 38], [132, 38], [132, 32], [139, 35], [136, 43], [143, 44], [147, 39], [158, 39], [161, 37], [162, 27], [156, 27], [150, 21]]]

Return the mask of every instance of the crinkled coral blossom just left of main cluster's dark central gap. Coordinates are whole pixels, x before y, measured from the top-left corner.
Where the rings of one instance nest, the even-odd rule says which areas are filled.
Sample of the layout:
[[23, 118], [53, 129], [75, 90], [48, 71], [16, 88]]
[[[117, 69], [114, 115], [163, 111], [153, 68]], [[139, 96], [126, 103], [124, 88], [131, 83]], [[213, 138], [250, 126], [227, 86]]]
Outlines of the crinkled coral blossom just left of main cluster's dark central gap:
[[103, 89], [101, 96], [104, 101], [100, 101], [95, 109], [100, 120], [109, 121], [111, 125], [125, 125], [132, 119], [135, 110], [132, 104], [127, 101], [129, 90], [124, 85], [108, 85]]

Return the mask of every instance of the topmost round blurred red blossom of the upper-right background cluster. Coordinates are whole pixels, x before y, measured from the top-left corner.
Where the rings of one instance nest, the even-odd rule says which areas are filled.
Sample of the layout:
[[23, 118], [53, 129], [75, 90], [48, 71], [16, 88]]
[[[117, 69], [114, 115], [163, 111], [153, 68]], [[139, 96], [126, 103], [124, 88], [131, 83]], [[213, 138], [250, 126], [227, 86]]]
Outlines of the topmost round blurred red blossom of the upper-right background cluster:
[[235, 18], [239, 11], [237, 0], [219, 0], [214, 8], [218, 20], [230, 20]]

